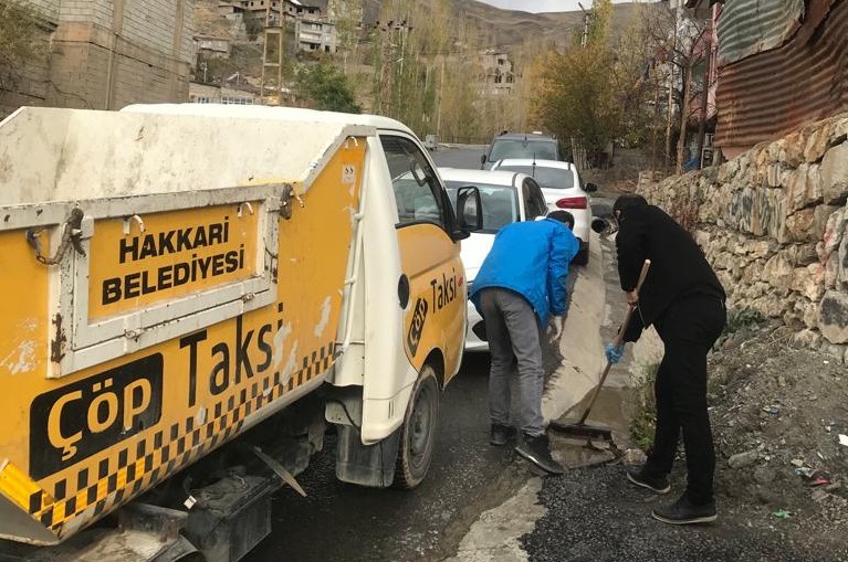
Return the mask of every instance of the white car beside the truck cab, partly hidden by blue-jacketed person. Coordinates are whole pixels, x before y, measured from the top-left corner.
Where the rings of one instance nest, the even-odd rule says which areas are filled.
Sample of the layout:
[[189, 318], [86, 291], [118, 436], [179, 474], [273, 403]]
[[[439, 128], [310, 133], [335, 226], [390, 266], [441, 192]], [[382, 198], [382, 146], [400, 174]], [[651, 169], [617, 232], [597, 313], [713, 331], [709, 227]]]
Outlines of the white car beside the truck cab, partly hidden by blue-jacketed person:
[[[448, 193], [454, 201], [457, 190], [474, 185], [480, 190], [483, 206], [483, 229], [462, 241], [462, 264], [469, 291], [483, 265], [483, 259], [494, 243], [494, 236], [502, 226], [517, 221], [533, 221], [547, 213], [547, 205], [542, 189], [533, 178], [525, 173], [488, 170], [459, 170], [439, 168], [439, 176], [444, 180]], [[468, 335], [465, 351], [488, 351], [484, 340], [483, 319], [474, 305], [468, 301]]]

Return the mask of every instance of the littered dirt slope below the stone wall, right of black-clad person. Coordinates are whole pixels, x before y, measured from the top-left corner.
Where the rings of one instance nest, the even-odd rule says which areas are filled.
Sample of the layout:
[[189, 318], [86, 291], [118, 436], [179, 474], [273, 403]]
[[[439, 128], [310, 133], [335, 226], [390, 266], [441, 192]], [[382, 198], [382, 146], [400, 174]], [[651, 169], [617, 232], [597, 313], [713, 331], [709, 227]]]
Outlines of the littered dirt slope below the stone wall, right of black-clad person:
[[[716, 491], [724, 516], [810, 553], [848, 547], [848, 368], [753, 324], [710, 359]], [[682, 475], [679, 476], [682, 478]]]

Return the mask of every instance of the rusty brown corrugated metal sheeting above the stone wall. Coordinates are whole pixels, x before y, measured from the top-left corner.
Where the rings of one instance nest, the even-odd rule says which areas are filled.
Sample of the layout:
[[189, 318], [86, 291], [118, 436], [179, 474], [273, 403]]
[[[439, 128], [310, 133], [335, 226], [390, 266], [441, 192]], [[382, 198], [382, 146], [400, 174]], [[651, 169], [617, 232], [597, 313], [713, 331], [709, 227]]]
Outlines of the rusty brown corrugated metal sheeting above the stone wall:
[[[725, 19], [733, 3], [725, 4], [720, 25], [737, 36], [750, 22]], [[803, 23], [782, 44], [721, 66], [718, 106], [715, 144], [730, 157], [848, 109], [848, 0], [810, 0]]]

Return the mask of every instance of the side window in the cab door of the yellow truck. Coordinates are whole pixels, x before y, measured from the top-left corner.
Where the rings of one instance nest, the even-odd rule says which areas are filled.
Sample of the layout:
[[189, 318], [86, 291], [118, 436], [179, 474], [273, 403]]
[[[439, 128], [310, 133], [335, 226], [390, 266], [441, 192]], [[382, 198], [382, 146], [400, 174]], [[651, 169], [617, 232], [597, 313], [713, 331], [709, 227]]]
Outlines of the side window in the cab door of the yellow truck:
[[446, 226], [444, 200], [436, 172], [408, 138], [381, 135], [391, 174], [398, 224], [432, 222]]

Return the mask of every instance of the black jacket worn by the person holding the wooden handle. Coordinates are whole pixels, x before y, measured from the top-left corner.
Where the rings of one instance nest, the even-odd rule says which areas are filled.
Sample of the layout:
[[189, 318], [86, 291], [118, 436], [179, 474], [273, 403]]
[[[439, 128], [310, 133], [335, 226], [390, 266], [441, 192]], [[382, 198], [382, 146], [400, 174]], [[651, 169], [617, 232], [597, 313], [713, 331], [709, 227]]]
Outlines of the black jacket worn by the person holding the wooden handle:
[[724, 300], [724, 288], [692, 236], [658, 206], [635, 202], [621, 209], [616, 238], [621, 288], [636, 288], [645, 259], [651, 261], [639, 290], [639, 314], [634, 315], [626, 341], [636, 341], [669, 306], [690, 295]]

